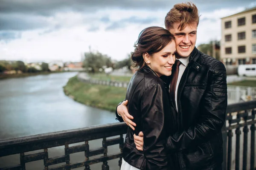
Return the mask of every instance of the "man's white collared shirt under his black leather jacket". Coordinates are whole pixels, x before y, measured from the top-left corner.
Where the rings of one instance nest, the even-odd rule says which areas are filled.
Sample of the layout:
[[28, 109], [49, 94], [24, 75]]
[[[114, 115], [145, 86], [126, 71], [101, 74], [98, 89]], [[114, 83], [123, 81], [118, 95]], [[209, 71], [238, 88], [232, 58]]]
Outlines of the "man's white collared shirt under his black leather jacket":
[[177, 102], [178, 87], [180, 84], [180, 79], [186, 69], [186, 66], [189, 64], [189, 57], [181, 57], [177, 60], [180, 60], [180, 62], [181, 62], [180, 67], [179, 67], [179, 74], [178, 74], [176, 89], [175, 89], [175, 103], [176, 103], [176, 109], [178, 110], [178, 102]]

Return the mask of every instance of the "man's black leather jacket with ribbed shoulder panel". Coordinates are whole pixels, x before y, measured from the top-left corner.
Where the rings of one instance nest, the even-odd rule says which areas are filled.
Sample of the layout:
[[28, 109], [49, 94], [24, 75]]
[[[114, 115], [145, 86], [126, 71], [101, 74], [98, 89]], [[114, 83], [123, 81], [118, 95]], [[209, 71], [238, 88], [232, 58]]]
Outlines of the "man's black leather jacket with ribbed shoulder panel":
[[[167, 86], [172, 79], [161, 78]], [[176, 169], [211, 170], [220, 166], [223, 160], [221, 127], [227, 109], [227, 76], [223, 63], [194, 48], [180, 80], [177, 106], [178, 131], [166, 142], [176, 155], [176, 166], [179, 166]]]

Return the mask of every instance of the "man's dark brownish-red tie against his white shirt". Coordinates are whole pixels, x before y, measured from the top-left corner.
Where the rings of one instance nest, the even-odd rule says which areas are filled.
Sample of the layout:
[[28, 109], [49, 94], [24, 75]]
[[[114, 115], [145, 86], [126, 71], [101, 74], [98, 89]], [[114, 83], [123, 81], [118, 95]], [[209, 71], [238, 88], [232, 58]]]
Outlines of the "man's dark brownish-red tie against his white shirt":
[[176, 90], [176, 85], [177, 85], [177, 80], [178, 80], [178, 75], [179, 75], [179, 68], [180, 68], [180, 60], [176, 60], [176, 65], [172, 68], [172, 82], [170, 85], [170, 96], [175, 104], [175, 90]]

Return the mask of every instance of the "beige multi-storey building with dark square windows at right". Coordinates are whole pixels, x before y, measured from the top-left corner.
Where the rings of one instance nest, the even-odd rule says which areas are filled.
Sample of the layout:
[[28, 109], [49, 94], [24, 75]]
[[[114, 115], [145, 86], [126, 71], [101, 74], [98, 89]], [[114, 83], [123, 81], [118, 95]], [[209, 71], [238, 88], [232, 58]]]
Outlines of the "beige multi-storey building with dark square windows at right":
[[256, 64], [256, 7], [221, 18], [221, 61]]

